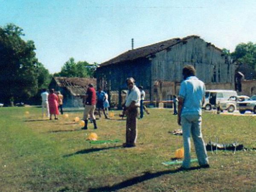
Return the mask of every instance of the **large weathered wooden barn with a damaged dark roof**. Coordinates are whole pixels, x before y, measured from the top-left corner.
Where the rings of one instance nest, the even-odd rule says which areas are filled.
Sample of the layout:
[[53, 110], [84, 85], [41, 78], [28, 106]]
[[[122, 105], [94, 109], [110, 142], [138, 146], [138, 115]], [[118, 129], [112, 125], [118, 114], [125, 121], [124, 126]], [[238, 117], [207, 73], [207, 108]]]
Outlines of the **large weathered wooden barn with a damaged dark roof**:
[[236, 67], [230, 58], [195, 35], [132, 49], [102, 63], [96, 70], [97, 85], [108, 90], [119, 106], [127, 77], [144, 87], [147, 100], [168, 100], [177, 94], [186, 64], [195, 67], [209, 88], [234, 89]]

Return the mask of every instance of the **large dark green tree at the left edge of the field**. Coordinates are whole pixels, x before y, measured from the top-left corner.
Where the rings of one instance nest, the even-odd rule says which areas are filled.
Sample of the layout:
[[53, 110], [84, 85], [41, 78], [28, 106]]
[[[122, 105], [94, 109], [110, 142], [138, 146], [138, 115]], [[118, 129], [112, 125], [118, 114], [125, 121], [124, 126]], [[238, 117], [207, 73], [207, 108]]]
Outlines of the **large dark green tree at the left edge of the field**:
[[10, 99], [26, 102], [38, 92], [38, 81], [44, 84], [46, 69], [35, 57], [34, 42], [23, 41], [23, 35], [14, 24], [0, 27], [0, 102], [5, 105]]

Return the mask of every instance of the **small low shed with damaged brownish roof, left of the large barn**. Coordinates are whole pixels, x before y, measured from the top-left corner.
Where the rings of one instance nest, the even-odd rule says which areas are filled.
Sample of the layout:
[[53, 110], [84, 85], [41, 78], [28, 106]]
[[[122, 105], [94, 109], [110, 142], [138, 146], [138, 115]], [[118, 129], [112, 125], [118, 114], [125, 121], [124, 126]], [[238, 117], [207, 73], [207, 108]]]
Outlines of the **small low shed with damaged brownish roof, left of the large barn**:
[[49, 89], [61, 91], [64, 96], [63, 107], [83, 107], [82, 98], [84, 96], [88, 84], [96, 84], [96, 79], [93, 78], [78, 78], [78, 77], [52, 77], [49, 84]]

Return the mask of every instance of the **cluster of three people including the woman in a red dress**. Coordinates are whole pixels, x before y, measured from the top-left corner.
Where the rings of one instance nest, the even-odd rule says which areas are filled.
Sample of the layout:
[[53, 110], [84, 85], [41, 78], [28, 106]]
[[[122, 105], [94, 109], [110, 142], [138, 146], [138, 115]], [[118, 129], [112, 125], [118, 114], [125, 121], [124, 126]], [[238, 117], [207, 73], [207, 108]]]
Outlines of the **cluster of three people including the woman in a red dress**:
[[54, 119], [58, 120], [59, 109], [61, 114], [63, 114], [63, 95], [60, 91], [55, 93], [54, 89], [50, 89], [49, 93], [46, 89], [42, 90], [41, 93], [42, 98], [42, 117], [44, 117], [44, 111], [46, 111], [46, 116], [52, 120], [52, 115], [54, 115]]

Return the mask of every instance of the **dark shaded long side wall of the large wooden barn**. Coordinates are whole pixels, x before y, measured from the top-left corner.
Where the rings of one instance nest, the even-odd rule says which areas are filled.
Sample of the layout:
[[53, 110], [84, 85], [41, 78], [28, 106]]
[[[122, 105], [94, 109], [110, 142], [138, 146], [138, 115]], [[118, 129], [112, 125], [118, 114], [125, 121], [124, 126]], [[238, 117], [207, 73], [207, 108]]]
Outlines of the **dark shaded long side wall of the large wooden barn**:
[[[151, 87], [151, 62], [148, 58], [102, 66], [96, 70], [97, 86], [103, 87], [103, 90], [108, 92], [111, 103], [113, 105], [118, 103], [119, 108], [122, 103], [121, 91], [127, 89], [126, 79], [128, 77], [133, 77], [137, 86], [141, 85], [145, 90], [149, 90]], [[118, 102], [116, 98], [118, 98]]]

